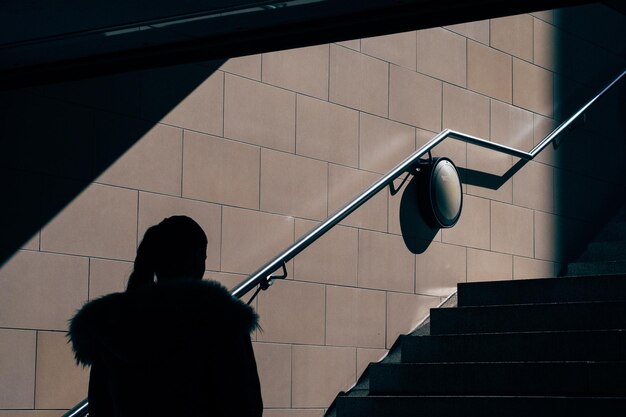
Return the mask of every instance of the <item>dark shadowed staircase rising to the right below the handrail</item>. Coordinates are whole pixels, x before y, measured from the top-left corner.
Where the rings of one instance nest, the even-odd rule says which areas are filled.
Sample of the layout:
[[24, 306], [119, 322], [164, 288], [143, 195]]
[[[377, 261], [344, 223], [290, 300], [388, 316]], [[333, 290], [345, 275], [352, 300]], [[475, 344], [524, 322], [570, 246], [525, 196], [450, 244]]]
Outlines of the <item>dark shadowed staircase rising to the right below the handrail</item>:
[[626, 210], [567, 273], [459, 284], [329, 415], [626, 415]]

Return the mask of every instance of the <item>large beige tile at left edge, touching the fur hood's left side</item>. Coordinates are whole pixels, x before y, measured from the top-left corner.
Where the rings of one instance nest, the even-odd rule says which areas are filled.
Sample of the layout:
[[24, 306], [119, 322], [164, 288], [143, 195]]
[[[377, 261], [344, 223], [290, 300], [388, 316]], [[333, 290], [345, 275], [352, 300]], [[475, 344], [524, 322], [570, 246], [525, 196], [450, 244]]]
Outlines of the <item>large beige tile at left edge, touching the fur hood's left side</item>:
[[87, 300], [88, 274], [87, 258], [17, 252], [0, 270], [0, 326], [67, 330]]

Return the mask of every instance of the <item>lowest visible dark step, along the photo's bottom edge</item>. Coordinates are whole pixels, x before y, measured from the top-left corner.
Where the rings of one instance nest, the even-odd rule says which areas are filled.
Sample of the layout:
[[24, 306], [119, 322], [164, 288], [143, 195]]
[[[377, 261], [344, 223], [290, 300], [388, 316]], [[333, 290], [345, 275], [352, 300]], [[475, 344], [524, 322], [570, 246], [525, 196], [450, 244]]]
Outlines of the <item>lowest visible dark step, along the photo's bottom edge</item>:
[[337, 417], [618, 416], [626, 398], [368, 396], [338, 397]]

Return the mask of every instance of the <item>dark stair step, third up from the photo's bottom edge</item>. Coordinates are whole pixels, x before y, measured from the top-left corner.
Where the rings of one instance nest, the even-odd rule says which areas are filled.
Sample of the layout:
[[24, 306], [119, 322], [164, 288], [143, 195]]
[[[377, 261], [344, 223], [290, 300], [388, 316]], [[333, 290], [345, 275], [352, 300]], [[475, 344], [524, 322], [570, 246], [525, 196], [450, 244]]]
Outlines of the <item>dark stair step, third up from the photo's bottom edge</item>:
[[626, 361], [626, 331], [402, 336], [403, 363]]

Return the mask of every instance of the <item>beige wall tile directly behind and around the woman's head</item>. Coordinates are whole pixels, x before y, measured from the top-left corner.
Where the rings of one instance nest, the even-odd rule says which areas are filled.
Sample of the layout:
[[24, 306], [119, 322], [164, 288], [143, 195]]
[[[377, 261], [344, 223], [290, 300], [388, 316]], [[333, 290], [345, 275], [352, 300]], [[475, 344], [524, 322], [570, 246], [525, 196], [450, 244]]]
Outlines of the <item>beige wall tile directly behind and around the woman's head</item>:
[[202, 227], [208, 240], [206, 267], [219, 270], [222, 214], [220, 206], [216, 204], [140, 193], [137, 240], [141, 242], [150, 226], [174, 215], [191, 217]]

